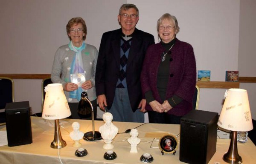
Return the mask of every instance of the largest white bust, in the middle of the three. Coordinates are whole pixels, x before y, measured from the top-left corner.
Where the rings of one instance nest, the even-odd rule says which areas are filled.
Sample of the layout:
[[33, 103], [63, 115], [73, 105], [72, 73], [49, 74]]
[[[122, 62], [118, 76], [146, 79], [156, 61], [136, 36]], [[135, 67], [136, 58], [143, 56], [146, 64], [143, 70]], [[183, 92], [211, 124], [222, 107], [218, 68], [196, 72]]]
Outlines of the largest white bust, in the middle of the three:
[[105, 142], [103, 148], [105, 150], [111, 150], [114, 147], [112, 142], [118, 133], [118, 128], [112, 123], [113, 115], [110, 112], [104, 113], [102, 119], [105, 124], [99, 127], [99, 132]]

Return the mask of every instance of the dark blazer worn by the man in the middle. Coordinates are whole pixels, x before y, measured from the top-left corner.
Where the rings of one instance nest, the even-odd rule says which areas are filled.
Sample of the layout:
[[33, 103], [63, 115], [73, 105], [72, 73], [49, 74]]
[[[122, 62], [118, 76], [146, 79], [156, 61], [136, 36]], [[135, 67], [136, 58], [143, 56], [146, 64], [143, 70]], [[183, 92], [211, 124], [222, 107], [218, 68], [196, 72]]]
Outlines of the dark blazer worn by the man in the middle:
[[[95, 75], [96, 94], [97, 96], [106, 95], [108, 109], [113, 104], [116, 83], [119, 78], [121, 34], [122, 29], [105, 32], [99, 47]], [[126, 67], [127, 89], [134, 112], [142, 99], [140, 72], [146, 50], [151, 44], [154, 44], [153, 35], [135, 29]]]

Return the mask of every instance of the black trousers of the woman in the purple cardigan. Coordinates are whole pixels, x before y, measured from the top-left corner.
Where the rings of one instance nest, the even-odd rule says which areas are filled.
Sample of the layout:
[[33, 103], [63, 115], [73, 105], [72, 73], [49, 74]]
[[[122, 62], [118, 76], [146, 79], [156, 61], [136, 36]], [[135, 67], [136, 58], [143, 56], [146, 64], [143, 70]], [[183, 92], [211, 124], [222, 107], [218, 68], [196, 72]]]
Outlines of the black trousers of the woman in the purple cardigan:
[[149, 123], [157, 124], [180, 124], [180, 118], [182, 116], [169, 115], [166, 112], [159, 113], [155, 111], [148, 111]]

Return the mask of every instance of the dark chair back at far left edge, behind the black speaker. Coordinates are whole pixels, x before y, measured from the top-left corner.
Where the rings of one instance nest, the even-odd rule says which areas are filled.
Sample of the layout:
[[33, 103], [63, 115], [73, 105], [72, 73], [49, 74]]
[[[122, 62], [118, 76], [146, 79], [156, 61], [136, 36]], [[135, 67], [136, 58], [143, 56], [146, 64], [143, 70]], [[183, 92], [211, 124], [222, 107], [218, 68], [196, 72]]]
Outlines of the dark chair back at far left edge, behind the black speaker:
[[[0, 109], [5, 109], [6, 103], [14, 102], [14, 82], [12, 78], [0, 77]], [[0, 112], [0, 125], [5, 123], [5, 112]]]

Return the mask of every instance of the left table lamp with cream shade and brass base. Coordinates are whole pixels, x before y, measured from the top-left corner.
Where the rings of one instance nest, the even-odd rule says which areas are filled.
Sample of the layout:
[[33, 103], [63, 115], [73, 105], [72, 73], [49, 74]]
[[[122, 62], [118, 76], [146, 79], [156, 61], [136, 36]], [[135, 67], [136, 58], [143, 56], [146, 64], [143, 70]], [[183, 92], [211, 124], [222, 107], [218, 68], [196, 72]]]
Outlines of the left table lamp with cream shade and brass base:
[[54, 149], [60, 149], [65, 147], [67, 144], [61, 137], [59, 119], [69, 117], [71, 115], [70, 108], [61, 83], [48, 84], [44, 91], [46, 92], [46, 95], [44, 99], [42, 118], [55, 120], [55, 133], [51, 147]]

